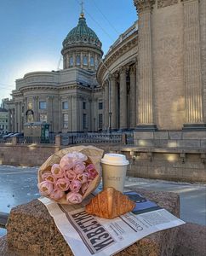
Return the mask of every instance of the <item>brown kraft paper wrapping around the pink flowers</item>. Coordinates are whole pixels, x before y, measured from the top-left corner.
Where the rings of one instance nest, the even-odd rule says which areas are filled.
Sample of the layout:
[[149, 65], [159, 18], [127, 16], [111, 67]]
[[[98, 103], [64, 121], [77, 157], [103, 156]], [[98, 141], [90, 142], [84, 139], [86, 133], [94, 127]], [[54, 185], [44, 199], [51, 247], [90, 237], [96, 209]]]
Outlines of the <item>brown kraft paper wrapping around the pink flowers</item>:
[[[40, 166], [40, 168], [38, 169], [38, 183], [41, 183], [43, 181], [42, 179], [43, 172], [50, 172], [51, 166], [53, 166], [54, 164], [59, 164], [61, 158], [65, 154], [72, 153], [73, 151], [86, 154], [88, 156], [88, 160], [86, 161], [86, 163], [94, 164], [95, 169], [98, 172], [98, 175], [94, 177], [94, 180], [89, 184], [89, 188], [86, 190], [85, 194], [83, 195], [83, 199], [85, 199], [89, 194], [91, 194], [94, 191], [94, 189], [98, 187], [100, 183], [100, 178], [101, 178], [100, 159], [102, 158], [102, 155], [104, 153], [104, 150], [100, 148], [96, 148], [93, 146], [77, 146], [77, 147], [71, 147], [71, 148], [64, 148], [56, 152], [55, 154], [52, 154], [51, 156], [49, 156], [48, 160], [46, 160], [43, 163], [43, 165]], [[66, 205], [71, 204], [70, 202], [66, 201], [66, 195], [64, 195], [64, 197], [62, 197], [60, 200], [57, 200], [56, 202], [60, 204], [66, 204]]]

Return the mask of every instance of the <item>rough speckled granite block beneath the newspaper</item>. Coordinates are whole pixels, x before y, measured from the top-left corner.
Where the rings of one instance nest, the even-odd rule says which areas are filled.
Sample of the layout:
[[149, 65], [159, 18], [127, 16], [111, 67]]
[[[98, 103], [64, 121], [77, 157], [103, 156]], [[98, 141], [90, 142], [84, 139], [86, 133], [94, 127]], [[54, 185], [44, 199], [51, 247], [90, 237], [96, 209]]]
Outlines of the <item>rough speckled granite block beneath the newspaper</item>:
[[[179, 195], [169, 192], [153, 192], [136, 189], [136, 185], [127, 189], [136, 190], [151, 201], [155, 201], [160, 207], [164, 207], [179, 217]], [[115, 255], [172, 256], [175, 251], [175, 238], [179, 229], [177, 227], [146, 236]], [[54, 219], [49, 215], [47, 208], [40, 201], [34, 200], [25, 205], [14, 207], [9, 215], [7, 230], [7, 241], [4, 239], [4, 247], [1, 247], [0, 250], [3, 256], [73, 255], [70, 247], [66, 244], [63, 236], [61, 236], [59, 230], [56, 228]], [[5, 243], [7, 243], [6, 246]], [[10, 253], [8, 254], [8, 252]]]

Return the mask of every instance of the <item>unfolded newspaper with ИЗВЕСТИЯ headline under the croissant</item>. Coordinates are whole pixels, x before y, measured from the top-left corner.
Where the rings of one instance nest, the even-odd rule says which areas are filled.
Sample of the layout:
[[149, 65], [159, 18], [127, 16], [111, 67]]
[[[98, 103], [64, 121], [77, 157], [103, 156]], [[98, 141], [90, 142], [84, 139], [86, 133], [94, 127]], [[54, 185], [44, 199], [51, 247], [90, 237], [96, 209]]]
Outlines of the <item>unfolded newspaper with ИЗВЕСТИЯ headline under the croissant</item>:
[[133, 212], [112, 219], [98, 218], [85, 212], [84, 207], [94, 194], [81, 205], [60, 205], [49, 198], [39, 198], [75, 256], [113, 255], [145, 236], [185, 224], [134, 191], [124, 193], [135, 201]]

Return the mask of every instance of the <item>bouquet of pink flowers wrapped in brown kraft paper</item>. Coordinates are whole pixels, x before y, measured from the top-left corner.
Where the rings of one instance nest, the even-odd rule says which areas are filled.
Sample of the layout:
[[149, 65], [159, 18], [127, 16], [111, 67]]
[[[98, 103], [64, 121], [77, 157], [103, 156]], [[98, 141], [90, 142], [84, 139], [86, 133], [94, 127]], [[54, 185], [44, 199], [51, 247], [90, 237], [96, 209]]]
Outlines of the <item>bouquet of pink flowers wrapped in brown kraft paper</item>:
[[[82, 148], [87, 147], [82, 146]], [[90, 146], [90, 148], [93, 149], [94, 147]], [[100, 159], [103, 151], [99, 148], [96, 149], [100, 151]], [[70, 152], [64, 154], [59, 162], [48, 166], [48, 163], [53, 159], [51, 156], [47, 160], [48, 163], [46, 161], [40, 167], [38, 189], [41, 195], [47, 196], [51, 200], [65, 204], [77, 204], [81, 203], [84, 197], [90, 194], [100, 183], [100, 169], [96, 167], [98, 165], [94, 166], [92, 157], [79, 151], [71, 152], [71, 148], [68, 151]]]

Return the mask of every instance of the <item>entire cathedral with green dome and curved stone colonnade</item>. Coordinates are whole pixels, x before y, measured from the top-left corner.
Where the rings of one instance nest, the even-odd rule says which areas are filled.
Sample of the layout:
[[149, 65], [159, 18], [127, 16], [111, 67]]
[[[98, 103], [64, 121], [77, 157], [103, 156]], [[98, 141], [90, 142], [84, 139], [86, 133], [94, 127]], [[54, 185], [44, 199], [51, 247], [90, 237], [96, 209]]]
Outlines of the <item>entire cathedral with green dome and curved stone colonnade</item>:
[[138, 20], [104, 60], [82, 12], [63, 41], [63, 70], [16, 81], [9, 131], [31, 122], [54, 132], [134, 131], [137, 145], [144, 136], [158, 140], [159, 131], [167, 140], [170, 131], [180, 139], [206, 131], [206, 1], [134, 0], [134, 7]]

